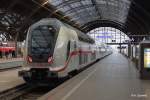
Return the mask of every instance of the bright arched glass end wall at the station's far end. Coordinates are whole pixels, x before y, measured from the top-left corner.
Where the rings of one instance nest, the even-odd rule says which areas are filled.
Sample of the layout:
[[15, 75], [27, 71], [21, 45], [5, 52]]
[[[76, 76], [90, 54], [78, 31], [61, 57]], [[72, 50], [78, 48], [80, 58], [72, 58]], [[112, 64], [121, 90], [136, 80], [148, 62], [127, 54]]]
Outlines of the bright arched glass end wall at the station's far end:
[[112, 27], [99, 27], [88, 32], [96, 43], [124, 43], [129, 37], [122, 31]]

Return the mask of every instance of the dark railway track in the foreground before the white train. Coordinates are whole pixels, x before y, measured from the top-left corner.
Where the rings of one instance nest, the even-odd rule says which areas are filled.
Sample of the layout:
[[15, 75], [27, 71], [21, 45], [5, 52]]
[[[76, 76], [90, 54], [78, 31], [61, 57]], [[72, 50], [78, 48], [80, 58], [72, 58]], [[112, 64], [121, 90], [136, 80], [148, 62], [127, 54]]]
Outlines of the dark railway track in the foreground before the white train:
[[[65, 81], [65, 80], [64, 80]], [[22, 84], [0, 93], [0, 100], [36, 100], [64, 81], [49, 86]]]

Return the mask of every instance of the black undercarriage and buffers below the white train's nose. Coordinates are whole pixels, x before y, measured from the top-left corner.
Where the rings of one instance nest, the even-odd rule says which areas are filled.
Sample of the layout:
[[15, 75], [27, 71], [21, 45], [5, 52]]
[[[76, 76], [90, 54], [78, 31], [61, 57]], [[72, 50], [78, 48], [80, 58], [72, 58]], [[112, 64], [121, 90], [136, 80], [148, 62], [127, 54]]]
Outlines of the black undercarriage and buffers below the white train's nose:
[[27, 83], [31, 84], [45, 84], [58, 81], [58, 74], [56, 72], [50, 72], [48, 68], [45, 69], [30, 69], [29, 71], [19, 71], [19, 76]]

